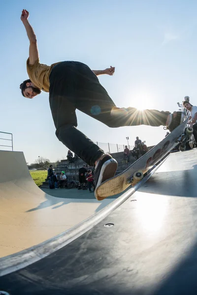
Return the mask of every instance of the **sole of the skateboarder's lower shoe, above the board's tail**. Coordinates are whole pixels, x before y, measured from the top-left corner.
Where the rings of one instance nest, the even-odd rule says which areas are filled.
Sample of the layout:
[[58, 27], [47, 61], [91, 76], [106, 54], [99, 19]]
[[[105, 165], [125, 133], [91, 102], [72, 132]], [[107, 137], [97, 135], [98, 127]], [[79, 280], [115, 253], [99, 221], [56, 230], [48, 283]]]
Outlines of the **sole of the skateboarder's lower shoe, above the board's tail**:
[[[115, 159], [109, 159], [106, 162], [103, 163], [101, 169], [100, 169], [100, 175], [97, 182], [96, 188], [105, 180], [114, 177], [116, 170], [118, 168], [118, 163]], [[96, 189], [95, 188], [95, 189]]]

